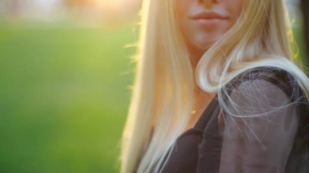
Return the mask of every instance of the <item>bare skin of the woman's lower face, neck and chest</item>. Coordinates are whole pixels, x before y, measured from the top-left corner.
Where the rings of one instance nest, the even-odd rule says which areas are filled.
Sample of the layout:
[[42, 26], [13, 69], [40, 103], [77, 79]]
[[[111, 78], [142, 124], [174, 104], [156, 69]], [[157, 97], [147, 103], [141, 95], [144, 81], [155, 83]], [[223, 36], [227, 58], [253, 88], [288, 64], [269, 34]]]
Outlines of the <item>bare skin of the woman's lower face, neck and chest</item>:
[[[237, 21], [243, 0], [177, 0], [176, 18], [195, 71], [202, 55]], [[183, 132], [194, 127], [216, 93], [202, 91], [195, 82], [194, 105]], [[182, 132], [182, 133], [183, 133]]]

